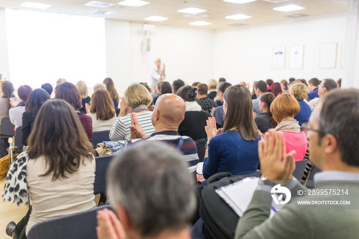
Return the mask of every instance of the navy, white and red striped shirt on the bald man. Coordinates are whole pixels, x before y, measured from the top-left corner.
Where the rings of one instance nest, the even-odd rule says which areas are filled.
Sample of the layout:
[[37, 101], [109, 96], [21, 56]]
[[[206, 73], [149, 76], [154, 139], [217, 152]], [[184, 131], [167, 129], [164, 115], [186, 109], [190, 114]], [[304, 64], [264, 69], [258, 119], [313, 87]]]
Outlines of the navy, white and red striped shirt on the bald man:
[[181, 151], [184, 154], [184, 160], [188, 163], [188, 170], [191, 173], [193, 173], [197, 169], [199, 162], [196, 143], [194, 143], [192, 138], [188, 136], [179, 135], [177, 131], [168, 130], [168, 131], [156, 132], [153, 133], [148, 138], [139, 138], [137, 140], [132, 140], [129, 144], [141, 140], [148, 140], [148, 141], [164, 141], [167, 144], [177, 147], [181, 137], [183, 138], [183, 145], [179, 151]]

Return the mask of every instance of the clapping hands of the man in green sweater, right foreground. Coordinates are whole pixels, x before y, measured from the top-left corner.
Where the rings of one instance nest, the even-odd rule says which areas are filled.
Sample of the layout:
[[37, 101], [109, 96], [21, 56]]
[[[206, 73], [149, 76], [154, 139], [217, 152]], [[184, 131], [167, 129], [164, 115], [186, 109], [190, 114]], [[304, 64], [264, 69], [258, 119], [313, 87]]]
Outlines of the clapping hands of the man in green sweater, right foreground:
[[286, 153], [283, 132], [269, 129], [265, 133], [266, 140], [258, 144], [262, 175], [267, 180], [292, 180], [295, 169], [295, 150]]

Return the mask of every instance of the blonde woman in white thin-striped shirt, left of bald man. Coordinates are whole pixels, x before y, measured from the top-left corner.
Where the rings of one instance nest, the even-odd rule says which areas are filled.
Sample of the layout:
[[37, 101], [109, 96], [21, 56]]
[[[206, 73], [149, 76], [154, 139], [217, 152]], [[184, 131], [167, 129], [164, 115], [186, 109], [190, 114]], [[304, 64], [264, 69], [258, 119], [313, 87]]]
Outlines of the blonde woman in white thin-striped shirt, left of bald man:
[[124, 141], [124, 144], [127, 144], [130, 140], [130, 113], [135, 113], [138, 116], [139, 124], [143, 127], [145, 134], [150, 136], [154, 132], [151, 122], [152, 111], [148, 110], [148, 106], [151, 104], [152, 95], [146, 87], [140, 84], [130, 85], [125, 91], [125, 97], [122, 98], [120, 104], [121, 110], [110, 130], [110, 140], [115, 142]]

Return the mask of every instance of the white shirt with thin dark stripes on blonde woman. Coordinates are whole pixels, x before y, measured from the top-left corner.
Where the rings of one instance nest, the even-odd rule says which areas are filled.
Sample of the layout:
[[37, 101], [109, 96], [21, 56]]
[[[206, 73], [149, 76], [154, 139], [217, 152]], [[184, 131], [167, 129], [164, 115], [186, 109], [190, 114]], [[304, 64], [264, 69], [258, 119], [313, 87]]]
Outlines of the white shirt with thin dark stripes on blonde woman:
[[[151, 116], [152, 111], [147, 111], [145, 113], [137, 114], [137, 119], [139, 125], [145, 131], [147, 136], [150, 136], [154, 132], [154, 127], [152, 125]], [[110, 140], [111, 141], [120, 141], [124, 140], [127, 143], [130, 140], [130, 126], [131, 125], [131, 114], [125, 115], [123, 117], [117, 117], [115, 123], [113, 124], [110, 130]]]

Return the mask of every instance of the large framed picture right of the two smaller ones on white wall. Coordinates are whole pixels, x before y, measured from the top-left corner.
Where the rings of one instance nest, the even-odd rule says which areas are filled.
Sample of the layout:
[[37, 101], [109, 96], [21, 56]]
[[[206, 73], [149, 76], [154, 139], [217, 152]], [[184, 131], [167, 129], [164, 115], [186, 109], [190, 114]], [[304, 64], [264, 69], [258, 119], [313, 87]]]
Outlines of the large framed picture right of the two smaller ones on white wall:
[[321, 43], [319, 54], [319, 68], [334, 69], [336, 67], [337, 43]]

